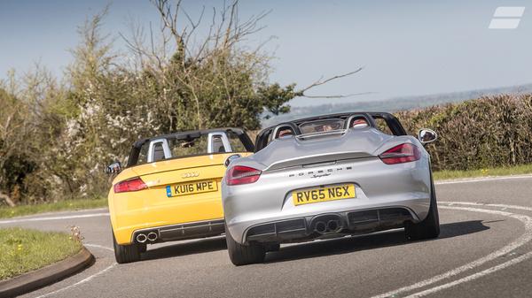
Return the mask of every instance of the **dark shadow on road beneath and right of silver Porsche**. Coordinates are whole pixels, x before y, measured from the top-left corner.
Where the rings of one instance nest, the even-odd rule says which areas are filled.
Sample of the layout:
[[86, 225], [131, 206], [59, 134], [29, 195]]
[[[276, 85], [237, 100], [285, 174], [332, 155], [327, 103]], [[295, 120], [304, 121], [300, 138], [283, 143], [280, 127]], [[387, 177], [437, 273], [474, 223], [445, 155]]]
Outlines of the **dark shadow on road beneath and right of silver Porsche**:
[[[441, 233], [438, 239], [458, 237], [471, 233], [488, 230], [482, 220], [468, 220], [440, 225]], [[437, 239], [436, 239], [437, 240]], [[277, 263], [288, 260], [304, 259], [316, 256], [330, 256], [347, 254], [355, 251], [383, 248], [412, 243], [404, 237], [403, 229], [345, 237], [330, 241], [314, 241], [281, 248], [278, 252], [269, 253], [266, 263]]]

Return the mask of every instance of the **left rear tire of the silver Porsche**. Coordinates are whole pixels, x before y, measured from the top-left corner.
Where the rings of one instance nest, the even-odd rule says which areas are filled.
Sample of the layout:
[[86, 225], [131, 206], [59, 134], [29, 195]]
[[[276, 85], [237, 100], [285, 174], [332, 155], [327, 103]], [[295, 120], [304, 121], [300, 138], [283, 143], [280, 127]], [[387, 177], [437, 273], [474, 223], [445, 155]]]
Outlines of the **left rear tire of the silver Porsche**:
[[258, 243], [251, 243], [249, 245], [242, 245], [235, 241], [225, 225], [225, 240], [227, 241], [227, 251], [231, 263], [236, 266], [262, 263], [266, 256], [266, 248]]

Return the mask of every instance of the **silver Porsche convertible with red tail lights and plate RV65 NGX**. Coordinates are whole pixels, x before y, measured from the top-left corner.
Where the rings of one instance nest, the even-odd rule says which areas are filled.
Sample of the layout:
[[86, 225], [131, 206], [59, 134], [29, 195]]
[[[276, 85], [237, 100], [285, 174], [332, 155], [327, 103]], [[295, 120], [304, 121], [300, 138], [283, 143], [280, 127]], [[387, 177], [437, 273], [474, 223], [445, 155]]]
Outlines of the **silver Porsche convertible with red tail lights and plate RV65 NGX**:
[[440, 233], [430, 156], [393, 115], [356, 112], [262, 130], [249, 157], [231, 156], [222, 182], [227, 247], [236, 265], [260, 263], [279, 243], [404, 227]]

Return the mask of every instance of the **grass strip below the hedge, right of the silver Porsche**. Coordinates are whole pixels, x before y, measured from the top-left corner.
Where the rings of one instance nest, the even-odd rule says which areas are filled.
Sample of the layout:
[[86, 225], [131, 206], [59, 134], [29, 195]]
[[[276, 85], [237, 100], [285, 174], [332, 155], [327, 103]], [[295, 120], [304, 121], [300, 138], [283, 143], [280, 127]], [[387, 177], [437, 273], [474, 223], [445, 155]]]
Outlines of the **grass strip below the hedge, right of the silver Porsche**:
[[532, 173], [532, 164], [515, 165], [510, 167], [487, 168], [468, 171], [437, 171], [434, 180], [453, 180], [475, 177], [508, 176]]

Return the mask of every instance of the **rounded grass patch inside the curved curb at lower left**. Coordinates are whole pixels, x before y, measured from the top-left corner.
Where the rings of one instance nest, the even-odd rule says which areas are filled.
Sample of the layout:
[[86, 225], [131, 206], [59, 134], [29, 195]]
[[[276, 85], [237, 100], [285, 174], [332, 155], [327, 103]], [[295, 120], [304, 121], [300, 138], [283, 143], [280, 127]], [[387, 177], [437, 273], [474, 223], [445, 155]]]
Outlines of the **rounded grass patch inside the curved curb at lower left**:
[[82, 243], [67, 233], [1, 228], [0, 280], [59, 262], [81, 249]]

